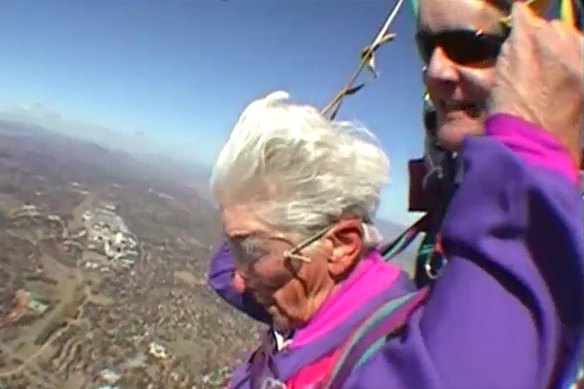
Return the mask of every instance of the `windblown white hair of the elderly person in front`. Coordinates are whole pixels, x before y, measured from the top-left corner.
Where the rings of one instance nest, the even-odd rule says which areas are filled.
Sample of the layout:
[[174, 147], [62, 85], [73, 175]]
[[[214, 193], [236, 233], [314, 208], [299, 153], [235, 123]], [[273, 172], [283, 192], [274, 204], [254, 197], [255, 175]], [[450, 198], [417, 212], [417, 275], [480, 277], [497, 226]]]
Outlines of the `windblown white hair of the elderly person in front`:
[[211, 175], [222, 207], [253, 207], [254, 214], [282, 231], [306, 238], [344, 217], [373, 227], [389, 159], [366, 128], [330, 121], [309, 105], [277, 91], [252, 102], [223, 146]]

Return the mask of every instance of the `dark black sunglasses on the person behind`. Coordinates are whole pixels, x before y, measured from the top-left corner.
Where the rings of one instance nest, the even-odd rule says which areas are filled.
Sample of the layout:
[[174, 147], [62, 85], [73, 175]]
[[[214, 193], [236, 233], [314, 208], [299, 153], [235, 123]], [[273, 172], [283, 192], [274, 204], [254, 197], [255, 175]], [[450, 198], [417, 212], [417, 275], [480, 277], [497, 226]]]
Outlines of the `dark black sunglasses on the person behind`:
[[497, 61], [510, 29], [501, 34], [479, 30], [449, 30], [437, 33], [418, 31], [416, 43], [422, 61], [430, 63], [434, 50], [440, 47], [453, 62], [464, 66], [487, 67]]

